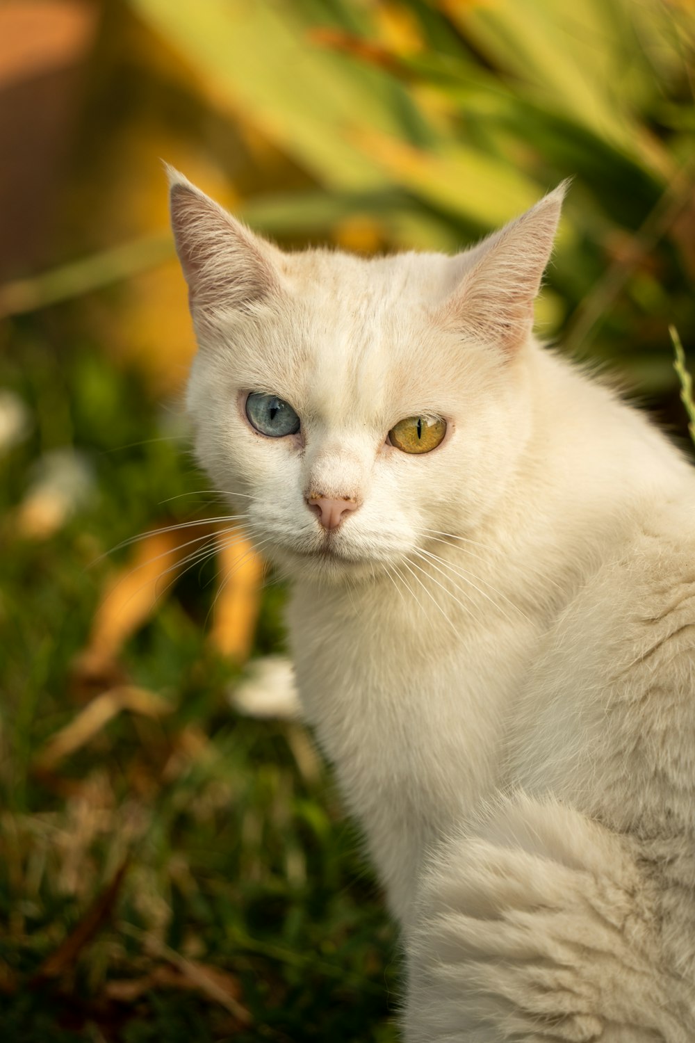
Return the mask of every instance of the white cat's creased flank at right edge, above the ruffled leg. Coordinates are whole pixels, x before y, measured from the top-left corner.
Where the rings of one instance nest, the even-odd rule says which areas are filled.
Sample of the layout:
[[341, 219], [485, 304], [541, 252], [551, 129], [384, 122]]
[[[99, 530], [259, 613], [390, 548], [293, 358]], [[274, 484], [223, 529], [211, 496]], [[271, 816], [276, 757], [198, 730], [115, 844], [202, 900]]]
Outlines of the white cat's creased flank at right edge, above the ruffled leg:
[[619, 519], [545, 635], [514, 732], [519, 784], [584, 794], [626, 829], [682, 789], [682, 766], [695, 778], [695, 495]]

